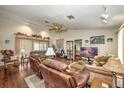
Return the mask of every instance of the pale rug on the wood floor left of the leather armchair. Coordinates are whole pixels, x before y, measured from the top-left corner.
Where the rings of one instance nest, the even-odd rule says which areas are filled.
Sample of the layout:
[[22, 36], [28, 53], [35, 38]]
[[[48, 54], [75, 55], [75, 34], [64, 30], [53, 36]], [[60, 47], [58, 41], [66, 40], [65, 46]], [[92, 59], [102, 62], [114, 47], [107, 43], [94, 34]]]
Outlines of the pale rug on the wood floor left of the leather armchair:
[[31, 75], [24, 78], [29, 88], [45, 88], [44, 80], [36, 75]]

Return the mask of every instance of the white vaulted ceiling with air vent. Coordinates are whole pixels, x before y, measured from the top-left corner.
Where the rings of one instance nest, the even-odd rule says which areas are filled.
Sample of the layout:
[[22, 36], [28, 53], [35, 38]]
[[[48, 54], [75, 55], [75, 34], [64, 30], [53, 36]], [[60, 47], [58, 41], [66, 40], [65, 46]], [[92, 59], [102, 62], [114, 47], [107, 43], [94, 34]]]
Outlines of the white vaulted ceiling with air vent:
[[[124, 6], [106, 5], [109, 14], [108, 23], [102, 24], [100, 15], [104, 12], [102, 5], [24, 5], [0, 6], [0, 11], [28, 19], [31, 22], [47, 27], [44, 21], [59, 22], [69, 29], [86, 28], [113, 28], [120, 27], [124, 22]], [[66, 16], [73, 15], [75, 19], [69, 20]], [[0, 14], [0, 19], [3, 19]], [[5, 18], [4, 18], [5, 19]]]

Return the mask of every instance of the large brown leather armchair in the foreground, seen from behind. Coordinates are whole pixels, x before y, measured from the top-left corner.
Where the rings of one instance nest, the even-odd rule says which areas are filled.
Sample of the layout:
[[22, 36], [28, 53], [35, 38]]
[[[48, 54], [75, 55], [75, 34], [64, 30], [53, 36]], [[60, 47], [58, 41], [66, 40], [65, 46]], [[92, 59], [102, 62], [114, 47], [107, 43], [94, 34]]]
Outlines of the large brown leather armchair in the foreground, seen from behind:
[[76, 88], [85, 87], [89, 79], [89, 73], [82, 75], [68, 71], [68, 65], [60, 61], [44, 60], [40, 64], [45, 87], [47, 88]]

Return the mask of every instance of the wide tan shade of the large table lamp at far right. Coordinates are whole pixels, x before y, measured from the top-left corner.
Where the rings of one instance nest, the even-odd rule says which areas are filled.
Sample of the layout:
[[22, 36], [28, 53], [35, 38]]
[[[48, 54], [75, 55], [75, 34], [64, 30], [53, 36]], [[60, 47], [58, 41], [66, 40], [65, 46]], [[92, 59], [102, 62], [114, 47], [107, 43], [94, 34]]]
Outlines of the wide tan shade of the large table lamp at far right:
[[124, 74], [124, 65], [121, 64], [118, 58], [109, 58], [108, 62], [103, 67], [111, 72]]

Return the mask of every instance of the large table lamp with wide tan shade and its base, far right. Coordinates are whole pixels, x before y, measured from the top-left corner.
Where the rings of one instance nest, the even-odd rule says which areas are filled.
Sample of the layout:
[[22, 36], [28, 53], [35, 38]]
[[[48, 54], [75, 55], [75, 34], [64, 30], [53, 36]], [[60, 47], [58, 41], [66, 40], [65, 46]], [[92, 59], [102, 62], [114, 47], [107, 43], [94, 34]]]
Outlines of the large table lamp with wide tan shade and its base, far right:
[[103, 65], [103, 67], [110, 71], [113, 75], [113, 80], [112, 80], [112, 87], [116, 88], [117, 87], [117, 79], [116, 79], [116, 74], [124, 74], [124, 66], [121, 64], [120, 59], [118, 58], [109, 58], [108, 62]]

